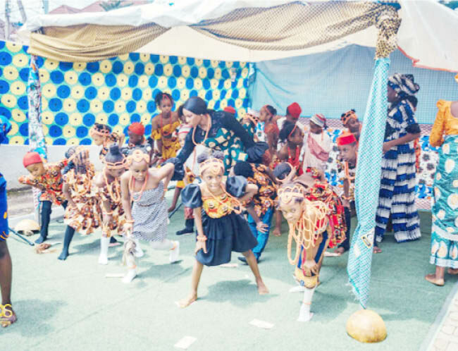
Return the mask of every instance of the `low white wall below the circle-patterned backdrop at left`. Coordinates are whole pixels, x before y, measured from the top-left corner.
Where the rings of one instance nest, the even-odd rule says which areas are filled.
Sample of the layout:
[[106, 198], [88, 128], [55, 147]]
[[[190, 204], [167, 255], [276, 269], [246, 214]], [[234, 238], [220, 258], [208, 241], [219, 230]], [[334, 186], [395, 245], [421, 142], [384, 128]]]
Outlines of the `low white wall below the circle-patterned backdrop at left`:
[[[95, 145], [90, 146], [90, 160], [94, 164], [96, 170], [101, 170], [102, 164], [99, 160], [100, 147]], [[48, 161], [57, 162], [64, 158], [68, 146], [49, 146]], [[24, 185], [18, 182], [18, 178], [27, 174], [27, 170], [23, 166], [23, 156], [29, 151], [28, 145], [6, 145], [0, 146], [0, 172], [4, 175], [8, 190], [20, 189]]]

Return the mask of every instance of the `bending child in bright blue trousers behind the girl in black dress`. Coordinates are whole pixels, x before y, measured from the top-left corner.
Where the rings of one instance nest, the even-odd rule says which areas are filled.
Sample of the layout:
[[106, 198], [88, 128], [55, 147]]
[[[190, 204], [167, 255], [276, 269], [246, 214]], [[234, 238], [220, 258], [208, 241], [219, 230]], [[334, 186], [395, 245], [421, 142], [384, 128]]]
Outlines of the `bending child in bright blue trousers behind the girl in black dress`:
[[[249, 228], [258, 241], [258, 245], [252, 251], [259, 263], [261, 254], [267, 245], [268, 233], [271, 230], [273, 212], [275, 211], [274, 202], [277, 199], [275, 176], [273, 176], [271, 169], [264, 164], [249, 164], [245, 161], [238, 162], [234, 166], [233, 175], [243, 176], [247, 179], [248, 184], [254, 184], [258, 187], [258, 191], [246, 207]], [[238, 259], [247, 262], [245, 257], [238, 257]]]

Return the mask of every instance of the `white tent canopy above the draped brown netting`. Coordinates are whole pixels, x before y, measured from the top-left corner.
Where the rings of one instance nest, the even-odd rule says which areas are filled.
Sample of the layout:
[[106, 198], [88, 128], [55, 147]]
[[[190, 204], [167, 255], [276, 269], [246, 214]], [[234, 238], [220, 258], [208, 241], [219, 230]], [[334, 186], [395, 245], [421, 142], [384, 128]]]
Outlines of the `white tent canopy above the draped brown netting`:
[[[171, 28], [138, 49], [149, 54], [190, 56], [221, 61], [266, 61], [340, 49], [349, 44], [374, 47], [377, 30], [369, 27], [334, 42], [290, 51], [263, 51], [226, 44], [193, 30], [201, 20], [218, 18], [237, 8], [271, 7], [287, 4], [286, 0], [178, 0], [130, 6], [109, 12], [40, 15], [31, 18], [22, 37], [40, 27], [80, 25], [143, 25], [156, 23]], [[302, 1], [307, 4], [312, 1]], [[398, 46], [412, 59], [414, 66], [458, 72], [458, 13], [435, 0], [399, 0], [402, 23], [397, 35]], [[280, 20], [280, 19], [279, 19]]]

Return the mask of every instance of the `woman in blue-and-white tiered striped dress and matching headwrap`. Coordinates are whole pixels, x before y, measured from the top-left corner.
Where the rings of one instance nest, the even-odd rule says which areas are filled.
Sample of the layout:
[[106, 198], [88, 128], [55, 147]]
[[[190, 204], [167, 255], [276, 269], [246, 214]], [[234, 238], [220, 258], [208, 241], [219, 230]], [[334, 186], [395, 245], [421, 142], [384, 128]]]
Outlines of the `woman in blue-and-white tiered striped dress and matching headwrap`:
[[374, 252], [383, 240], [388, 218], [397, 242], [419, 239], [420, 220], [415, 207], [414, 140], [421, 131], [415, 121], [414, 94], [420, 89], [413, 75], [395, 73], [388, 78], [388, 118], [383, 143], [382, 176], [376, 213]]

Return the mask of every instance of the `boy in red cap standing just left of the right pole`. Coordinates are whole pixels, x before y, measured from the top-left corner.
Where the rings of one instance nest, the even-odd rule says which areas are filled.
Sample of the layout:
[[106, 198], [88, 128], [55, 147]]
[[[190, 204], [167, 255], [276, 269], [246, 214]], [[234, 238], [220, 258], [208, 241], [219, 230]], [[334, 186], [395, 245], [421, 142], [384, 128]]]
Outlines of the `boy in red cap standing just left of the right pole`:
[[354, 179], [357, 171], [358, 143], [353, 133], [343, 133], [337, 138], [339, 154], [342, 162], [338, 161], [339, 178], [343, 181], [344, 193], [342, 205], [345, 210], [345, 222], [347, 233], [345, 240], [335, 250], [337, 254], [343, 254], [349, 250], [350, 227], [352, 225], [352, 209], [354, 209]]

